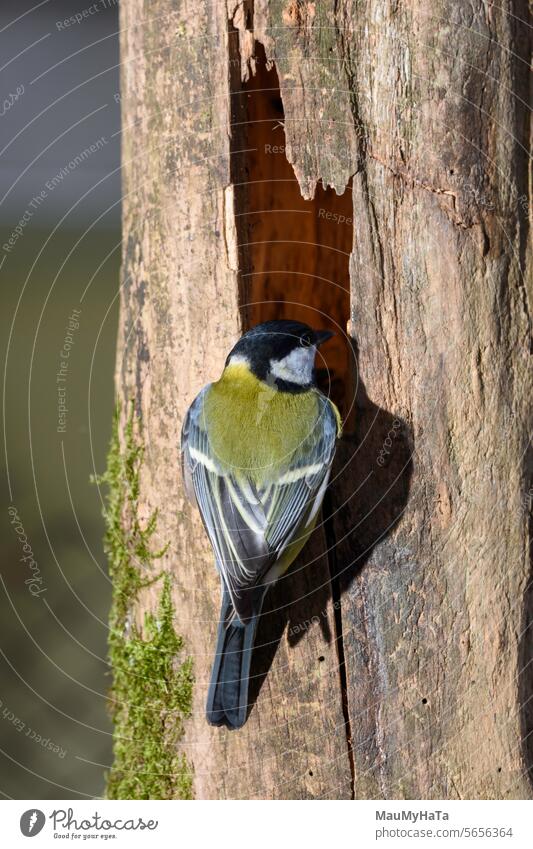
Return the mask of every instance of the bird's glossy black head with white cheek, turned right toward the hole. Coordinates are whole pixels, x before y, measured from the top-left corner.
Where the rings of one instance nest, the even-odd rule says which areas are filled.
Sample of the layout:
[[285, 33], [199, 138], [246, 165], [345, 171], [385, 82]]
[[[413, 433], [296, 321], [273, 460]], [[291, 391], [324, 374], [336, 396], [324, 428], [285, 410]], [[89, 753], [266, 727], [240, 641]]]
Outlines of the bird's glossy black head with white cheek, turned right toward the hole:
[[314, 385], [317, 349], [333, 336], [299, 321], [265, 321], [245, 333], [230, 352], [226, 367], [246, 365], [260, 380], [287, 392]]

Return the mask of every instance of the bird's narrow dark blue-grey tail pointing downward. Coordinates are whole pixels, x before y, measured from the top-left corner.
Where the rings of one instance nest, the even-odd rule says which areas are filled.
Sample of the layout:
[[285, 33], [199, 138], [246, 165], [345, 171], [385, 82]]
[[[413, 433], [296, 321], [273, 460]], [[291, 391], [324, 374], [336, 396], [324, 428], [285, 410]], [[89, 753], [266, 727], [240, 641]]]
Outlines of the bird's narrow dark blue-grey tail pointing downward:
[[250, 665], [259, 615], [243, 625], [237, 617], [231, 618], [232, 612], [224, 590], [206, 716], [210, 725], [242, 728], [248, 711]]

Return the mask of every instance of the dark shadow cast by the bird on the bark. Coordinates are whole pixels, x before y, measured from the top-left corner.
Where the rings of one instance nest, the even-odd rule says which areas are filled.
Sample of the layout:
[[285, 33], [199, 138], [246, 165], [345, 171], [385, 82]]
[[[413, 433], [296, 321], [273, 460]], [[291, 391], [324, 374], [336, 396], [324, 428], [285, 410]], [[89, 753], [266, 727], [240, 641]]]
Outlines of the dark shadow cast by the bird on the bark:
[[[357, 353], [355, 357], [357, 361]], [[342, 596], [375, 546], [400, 521], [408, 501], [412, 431], [405, 421], [374, 404], [361, 380], [357, 387], [354, 433], [343, 438], [337, 448], [321, 530], [315, 531], [287, 576], [265, 599], [252, 660], [250, 710], [286, 628], [289, 647], [297, 645], [316, 626], [320, 626], [328, 643], [336, 639], [341, 687], [345, 690]], [[320, 544], [321, 533], [326, 539], [327, 555]], [[331, 601], [334, 635], [328, 616]], [[321, 662], [324, 658], [316, 660]]]

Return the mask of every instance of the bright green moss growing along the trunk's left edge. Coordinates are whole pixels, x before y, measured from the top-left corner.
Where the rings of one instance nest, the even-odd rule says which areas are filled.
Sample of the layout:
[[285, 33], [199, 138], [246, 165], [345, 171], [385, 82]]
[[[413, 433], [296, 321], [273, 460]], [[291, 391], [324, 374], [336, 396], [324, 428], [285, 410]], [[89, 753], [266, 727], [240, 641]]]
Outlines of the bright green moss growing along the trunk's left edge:
[[[142, 441], [136, 435], [133, 406], [119, 438], [119, 412], [113, 422], [107, 470], [105, 550], [113, 582], [109, 658], [113, 669], [111, 705], [114, 762], [107, 778], [110, 799], [190, 799], [192, 772], [178, 751], [183, 720], [192, 703], [192, 662], [181, 660], [183, 640], [174, 631], [170, 576], [152, 574], [166, 548], [152, 551], [157, 512], [138, 517]], [[126, 528], [128, 531], [126, 532]], [[139, 590], [163, 578], [156, 614], [144, 627], [132, 621]]]

